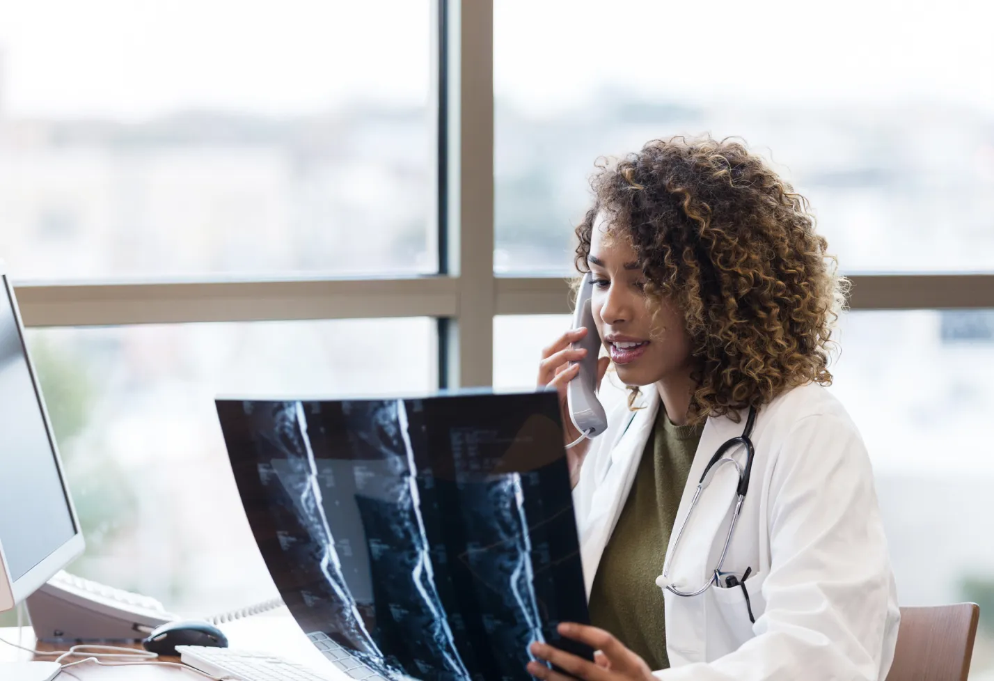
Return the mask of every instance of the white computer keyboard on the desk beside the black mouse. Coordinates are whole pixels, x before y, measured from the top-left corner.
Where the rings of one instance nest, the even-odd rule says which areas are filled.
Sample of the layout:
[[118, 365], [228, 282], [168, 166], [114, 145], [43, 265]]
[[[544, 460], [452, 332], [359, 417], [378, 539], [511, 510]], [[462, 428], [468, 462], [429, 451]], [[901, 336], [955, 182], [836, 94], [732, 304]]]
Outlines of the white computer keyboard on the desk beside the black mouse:
[[238, 681], [340, 681], [283, 657], [231, 648], [177, 645], [180, 661], [212, 676]]

